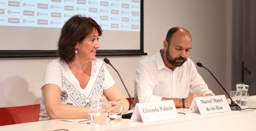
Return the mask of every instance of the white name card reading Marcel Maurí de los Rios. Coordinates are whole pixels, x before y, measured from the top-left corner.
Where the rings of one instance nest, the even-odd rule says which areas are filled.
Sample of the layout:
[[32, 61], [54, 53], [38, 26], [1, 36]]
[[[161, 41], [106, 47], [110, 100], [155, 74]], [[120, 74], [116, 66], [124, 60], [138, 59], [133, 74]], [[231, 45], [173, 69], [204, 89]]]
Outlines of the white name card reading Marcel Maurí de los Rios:
[[188, 113], [210, 114], [231, 111], [225, 95], [194, 97]]

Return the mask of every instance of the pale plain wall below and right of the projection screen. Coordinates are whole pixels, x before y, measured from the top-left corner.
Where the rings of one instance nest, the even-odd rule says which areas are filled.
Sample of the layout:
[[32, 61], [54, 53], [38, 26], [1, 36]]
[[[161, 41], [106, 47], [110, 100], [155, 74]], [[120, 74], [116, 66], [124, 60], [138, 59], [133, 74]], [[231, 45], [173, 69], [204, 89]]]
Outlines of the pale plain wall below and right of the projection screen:
[[[229, 91], [231, 9], [231, 0], [144, 0], [144, 50], [148, 56], [156, 54], [171, 27], [184, 27], [192, 35], [190, 59], [210, 69]], [[131, 96], [134, 95], [135, 69], [143, 57], [146, 56], [107, 57], [121, 74]], [[43, 72], [53, 59], [56, 58], [0, 58], [0, 107], [39, 103]], [[106, 66], [128, 97], [116, 72]], [[209, 72], [197, 69], [215, 94], [224, 94]]]

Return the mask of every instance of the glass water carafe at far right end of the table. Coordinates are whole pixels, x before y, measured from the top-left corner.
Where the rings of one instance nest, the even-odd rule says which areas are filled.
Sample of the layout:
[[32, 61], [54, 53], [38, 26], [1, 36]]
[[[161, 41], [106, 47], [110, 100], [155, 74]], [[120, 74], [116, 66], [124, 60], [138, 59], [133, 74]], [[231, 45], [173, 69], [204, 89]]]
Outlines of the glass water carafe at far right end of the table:
[[237, 91], [241, 91], [241, 108], [248, 108], [249, 106], [249, 99], [250, 99], [250, 95], [248, 93], [248, 85], [246, 84], [237, 84]]

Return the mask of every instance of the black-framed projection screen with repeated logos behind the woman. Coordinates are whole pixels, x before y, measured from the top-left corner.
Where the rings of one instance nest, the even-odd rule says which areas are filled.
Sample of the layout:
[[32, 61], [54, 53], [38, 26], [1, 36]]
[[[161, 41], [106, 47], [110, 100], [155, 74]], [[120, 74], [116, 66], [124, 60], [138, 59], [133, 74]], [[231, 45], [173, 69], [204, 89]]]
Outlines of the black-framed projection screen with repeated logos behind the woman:
[[98, 56], [146, 55], [143, 0], [2, 0], [0, 57], [57, 56], [61, 28], [76, 14], [102, 27]]

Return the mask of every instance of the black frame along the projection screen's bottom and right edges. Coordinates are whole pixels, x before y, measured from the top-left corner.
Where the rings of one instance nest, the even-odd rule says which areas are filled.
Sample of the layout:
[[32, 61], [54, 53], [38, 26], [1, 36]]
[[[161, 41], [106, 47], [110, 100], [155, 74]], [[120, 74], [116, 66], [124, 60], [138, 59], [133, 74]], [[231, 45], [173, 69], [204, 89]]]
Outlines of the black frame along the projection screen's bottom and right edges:
[[[144, 52], [144, 0], [140, 1], [140, 49], [97, 50], [96, 56], [147, 55]], [[0, 50], [0, 58], [8, 57], [57, 57], [57, 50]]]

